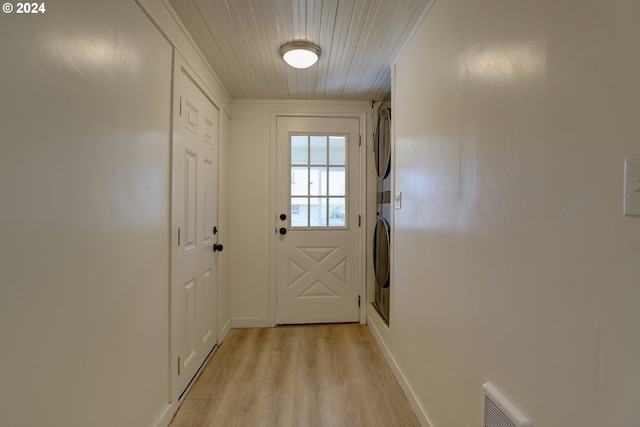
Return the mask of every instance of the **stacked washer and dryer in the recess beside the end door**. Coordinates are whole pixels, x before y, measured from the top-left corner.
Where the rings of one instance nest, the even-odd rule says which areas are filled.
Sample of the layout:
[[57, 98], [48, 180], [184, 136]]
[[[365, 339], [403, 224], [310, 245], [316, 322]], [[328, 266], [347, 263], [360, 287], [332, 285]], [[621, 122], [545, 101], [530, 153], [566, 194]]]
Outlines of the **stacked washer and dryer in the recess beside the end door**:
[[391, 296], [391, 109], [380, 108], [374, 138], [375, 164], [378, 174], [377, 220], [373, 235], [373, 269], [376, 278], [375, 305], [389, 323]]

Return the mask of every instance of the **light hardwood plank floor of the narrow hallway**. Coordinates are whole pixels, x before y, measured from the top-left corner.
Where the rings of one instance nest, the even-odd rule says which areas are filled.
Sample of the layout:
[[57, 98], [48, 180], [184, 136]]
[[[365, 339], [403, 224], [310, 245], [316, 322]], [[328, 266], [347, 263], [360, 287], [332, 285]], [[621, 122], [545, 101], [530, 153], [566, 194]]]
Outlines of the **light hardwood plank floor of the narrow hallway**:
[[363, 325], [232, 329], [170, 427], [420, 426]]

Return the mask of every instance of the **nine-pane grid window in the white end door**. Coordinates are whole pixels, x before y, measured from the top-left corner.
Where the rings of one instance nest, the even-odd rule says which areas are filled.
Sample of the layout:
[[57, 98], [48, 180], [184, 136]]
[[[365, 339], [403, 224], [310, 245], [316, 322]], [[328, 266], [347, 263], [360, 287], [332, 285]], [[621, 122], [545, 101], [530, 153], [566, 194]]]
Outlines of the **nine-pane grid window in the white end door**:
[[290, 135], [292, 228], [347, 228], [346, 135]]

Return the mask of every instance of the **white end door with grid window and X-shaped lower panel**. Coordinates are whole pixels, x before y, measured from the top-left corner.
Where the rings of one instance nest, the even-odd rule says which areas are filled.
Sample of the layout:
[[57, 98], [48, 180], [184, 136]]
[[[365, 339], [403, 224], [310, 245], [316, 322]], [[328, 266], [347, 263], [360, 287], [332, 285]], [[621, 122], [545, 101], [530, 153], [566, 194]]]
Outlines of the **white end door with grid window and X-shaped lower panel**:
[[359, 320], [357, 118], [276, 119], [278, 324]]

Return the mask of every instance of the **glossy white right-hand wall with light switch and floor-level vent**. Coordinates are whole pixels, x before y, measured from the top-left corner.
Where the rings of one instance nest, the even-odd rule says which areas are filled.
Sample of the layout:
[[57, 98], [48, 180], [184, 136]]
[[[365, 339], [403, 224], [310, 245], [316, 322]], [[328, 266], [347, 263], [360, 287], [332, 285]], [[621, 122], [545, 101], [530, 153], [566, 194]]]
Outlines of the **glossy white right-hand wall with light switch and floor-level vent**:
[[[391, 326], [433, 427], [640, 425], [640, 3], [436, 1], [395, 69]], [[375, 323], [375, 322], [374, 322]]]

